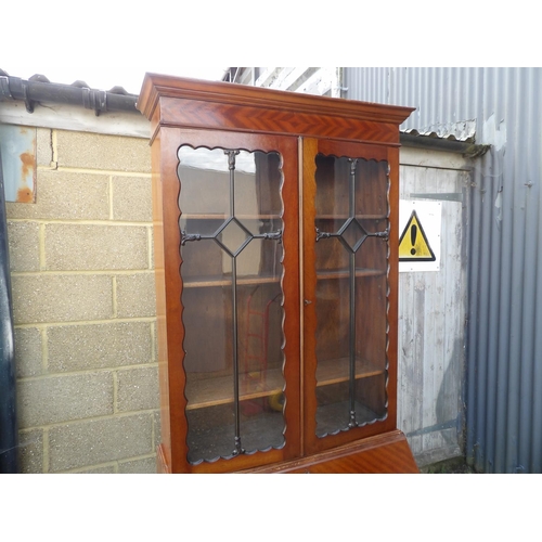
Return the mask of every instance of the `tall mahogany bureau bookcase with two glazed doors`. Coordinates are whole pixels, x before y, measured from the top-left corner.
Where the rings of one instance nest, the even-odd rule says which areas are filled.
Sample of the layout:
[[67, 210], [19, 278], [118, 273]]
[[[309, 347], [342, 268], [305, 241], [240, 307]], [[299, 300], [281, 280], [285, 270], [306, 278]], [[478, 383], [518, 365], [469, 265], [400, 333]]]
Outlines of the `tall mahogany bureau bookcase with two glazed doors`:
[[164, 473], [412, 473], [408, 107], [146, 74]]

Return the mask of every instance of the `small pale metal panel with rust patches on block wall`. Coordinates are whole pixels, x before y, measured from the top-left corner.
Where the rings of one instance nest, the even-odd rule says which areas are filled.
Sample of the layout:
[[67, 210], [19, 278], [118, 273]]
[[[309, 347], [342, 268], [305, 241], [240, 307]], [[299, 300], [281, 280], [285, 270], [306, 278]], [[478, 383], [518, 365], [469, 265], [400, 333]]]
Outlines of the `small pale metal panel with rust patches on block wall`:
[[7, 202], [36, 201], [36, 128], [0, 125]]

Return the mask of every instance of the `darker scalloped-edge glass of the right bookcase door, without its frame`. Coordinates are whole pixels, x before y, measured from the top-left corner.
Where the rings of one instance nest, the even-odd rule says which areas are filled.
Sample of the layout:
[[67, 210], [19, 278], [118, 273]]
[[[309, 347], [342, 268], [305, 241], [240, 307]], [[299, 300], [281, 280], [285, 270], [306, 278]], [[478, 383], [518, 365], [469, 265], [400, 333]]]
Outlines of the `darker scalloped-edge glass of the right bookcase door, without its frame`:
[[317, 435], [386, 415], [387, 163], [317, 157]]

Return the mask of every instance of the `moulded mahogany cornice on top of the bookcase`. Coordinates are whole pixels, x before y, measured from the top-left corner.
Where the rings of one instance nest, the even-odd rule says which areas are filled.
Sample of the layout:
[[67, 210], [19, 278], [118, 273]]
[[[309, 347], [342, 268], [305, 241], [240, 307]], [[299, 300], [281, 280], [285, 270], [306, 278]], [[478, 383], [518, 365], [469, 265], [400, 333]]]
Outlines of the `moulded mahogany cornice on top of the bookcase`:
[[[337, 119], [338, 122], [341, 122], [340, 119], [345, 121], [348, 119], [353, 122], [388, 125], [389, 128], [395, 127], [393, 131], [398, 131], [399, 125], [414, 111], [413, 107], [302, 94], [231, 82], [145, 74], [137, 107], [146, 118], [152, 120], [153, 130], [157, 128], [157, 125], [197, 126], [197, 121], [186, 117], [188, 109], [195, 107], [193, 104], [198, 104], [198, 117], [201, 118], [202, 113], [209, 113], [210, 116], [211, 111], [215, 114], [219, 111], [218, 107], [221, 107], [220, 111], [224, 112], [221, 115], [222, 118], [220, 120], [215, 118], [215, 121], [219, 124], [223, 121], [224, 116], [228, 116], [229, 122], [227, 121], [223, 126], [225, 129], [254, 128], [248, 118], [254, 119], [256, 114], [260, 117], [264, 111], [272, 113], [274, 121], [279, 116], [284, 118], [289, 114], [296, 114], [296, 116], [304, 117], [302, 127], [298, 127], [294, 122], [291, 128], [285, 129], [285, 122], [279, 121], [279, 125], [283, 125], [281, 129], [275, 130], [271, 126], [272, 122], [268, 128], [262, 129], [262, 131], [296, 134], [310, 134], [310, 131], [304, 131], [306, 126], [313, 124], [314, 120], [317, 124], [330, 122], [333, 118]], [[233, 120], [233, 109], [245, 111], [246, 119], [240, 120], [240, 117], [236, 116]], [[261, 121], [261, 117], [259, 120]], [[199, 122], [201, 126], [205, 126], [205, 120]], [[235, 122], [241, 122], [242, 126], [234, 126]], [[222, 126], [214, 126], [211, 122], [211, 126], [205, 127], [220, 128]], [[343, 128], [346, 129], [346, 125]]]

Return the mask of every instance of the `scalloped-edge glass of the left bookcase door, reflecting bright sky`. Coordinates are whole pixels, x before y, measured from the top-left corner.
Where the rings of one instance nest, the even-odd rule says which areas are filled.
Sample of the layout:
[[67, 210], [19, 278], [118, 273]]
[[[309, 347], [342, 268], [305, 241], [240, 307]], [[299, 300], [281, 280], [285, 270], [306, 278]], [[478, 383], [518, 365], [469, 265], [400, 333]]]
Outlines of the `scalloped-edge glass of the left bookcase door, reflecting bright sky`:
[[279, 153], [181, 146], [189, 461], [284, 446]]

